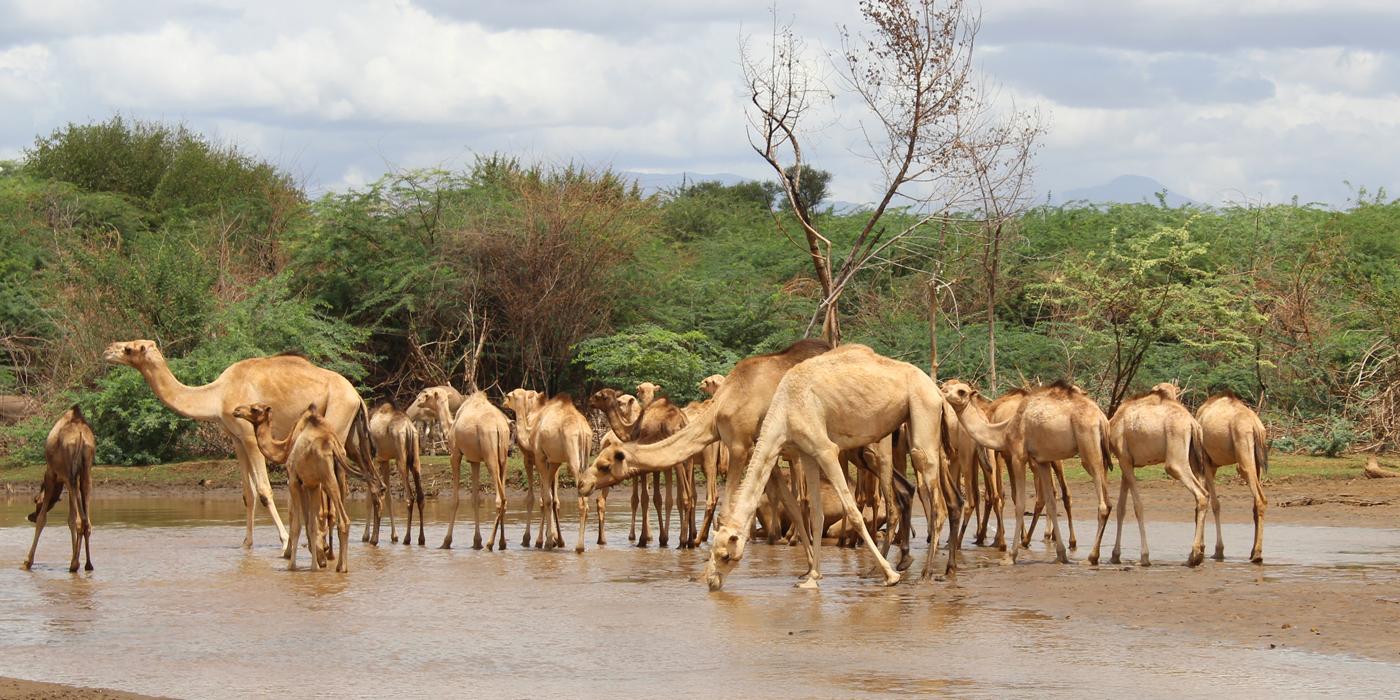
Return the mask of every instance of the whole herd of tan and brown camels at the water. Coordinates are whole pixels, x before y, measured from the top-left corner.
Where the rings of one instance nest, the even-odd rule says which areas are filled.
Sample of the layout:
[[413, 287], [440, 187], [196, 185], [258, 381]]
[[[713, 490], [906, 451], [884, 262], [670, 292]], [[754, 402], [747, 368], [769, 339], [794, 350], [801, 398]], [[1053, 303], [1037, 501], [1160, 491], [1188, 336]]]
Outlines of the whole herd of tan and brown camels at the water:
[[[827, 536], [862, 547], [874, 560], [869, 573], [893, 585], [913, 563], [916, 501], [928, 518], [931, 542], [942, 539], [935, 535], [944, 532], [946, 522], [945, 577], [956, 575], [959, 549], [970, 524], [976, 522], [973, 542], [984, 545], [994, 517], [997, 528], [990, 546], [1004, 550], [1004, 563], [1014, 564], [1018, 552], [1029, 546], [1042, 510], [1056, 557], [1068, 563], [1057, 501], [1065, 508], [1068, 547], [1075, 549], [1061, 465], [1071, 458], [1084, 465], [1098, 497], [1089, 564], [1099, 563], [1113, 508], [1109, 472], [1114, 462], [1121, 469], [1120, 510], [1110, 561], [1120, 559], [1123, 515], [1131, 494], [1141, 564], [1149, 564], [1135, 476], [1137, 468], [1148, 465], [1163, 465], [1194, 498], [1196, 532], [1189, 566], [1204, 559], [1208, 510], [1215, 514], [1214, 559], [1224, 559], [1215, 472], [1235, 465], [1254, 497], [1250, 560], [1263, 561], [1266, 498], [1260, 477], [1268, 466], [1267, 435], [1259, 416], [1229, 393], [1211, 396], [1193, 414], [1177, 400], [1175, 385], [1159, 384], [1124, 402], [1110, 419], [1081, 388], [1067, 382], [987, 399], [967, 382], [948, 379], [939, 386], [918, 367], [882, 357], [861, 344], [832, 349], [819, 340], [799, 340], [778, 353], [742, 360], [728, 375], [706, 378], [700, 388], [711, 398], [687, 406], [661, 396], [662, 388], [651, 382], [638, 385], [636, 396], [612, 388], [595, 392], [587, 407], [601, 413], [610, 430], [589, 461], [594, 428], [567, 393], [546, 396], [519, 388], [507, 392], [501, 406], [496, 406], [483, 391], [462, 395], [451, 386], [433, 386], [421, 391], [406, 410], [381, 403], [371, 412], [344, 377], [297, 354], [235, 363], [203, 386], [181, 384], [151, 340], [112, 343], [104, 357], [141, 372], [155, 396], [175, 413], [223, 427], [234, 441], [241, 466], [246, 505], [244, 546], [252, 545], [253, 517], [262, 505], [277, 528], [283, 557], [291, 568], [304, 529], [312, 568], [335, 560], [337, 571], [349, 570], [350, 518], [344, 501], [351, 477], [364, 482], [368, 493], [363, 542], [378, 543], [385, 511], [391, 540], [399, 542], [389, 487], [396, 473], [407, 526], [402, 542], [409, 545], [413, 539], [417, 512], [417, 543], [426, 543], [416, 426], [420, 421], [441, 426], [451, 456], [452, 507], [444, 549], [452, 546], [463, 461], [472, 463], [473, 547], [483, 549], [480, 469], [486, 465], [494, 510], [484, 549], [505, 549], [507, 456], [514, 447], [522, 455], [528, 491], [522, 546], [566, 546], [559, 505], [564, 468], [578, 484], [575, 552], [585, 550], [589, 500], [596, 512], [595, 542], [606, 545], [608, 491], [630, 480], [629, 539], [647, 546], [654, 515], [657, 542], [668, 546], [675, 508], [679, 547], [710, 542], [706, 582], [711, 589], [724, 585], [745, 556], [748, 542], [760, 532], [770, 543], [804, 547], [808, 570], [801, 587], [819, 585], [820, 547]], [[29, 515], [35, 535], [25, 568], [32, 564], [49, 508], [67, 487], [70, 570], [77, 570], [80, 545], [87, 545], [91, 533], [87, 503], [94, 444], [92, 430], [77, 406], [49, 434], [48, 470], [35, 497], [35, 512]], [[290, 533], [273, 504], [267, 462], [287, 468]], [[732, 470], [734, 465], [741, 466]], [[704, 475], [703, 517], [696, 470]], [[1023, 493], [1028, 472], [1036, 496], [1029, 528]], [[1011, 487], [1015, 521], [1009, 545], [1002, 521], [1002, 473]], [[539, 505], [538, 529], [532, 529], [535, 505]], [[335, 536], [340, 540], [339, 552], [333, 549]], [[893, 564], [892, 547], [897, 547]], [[923, 578], [934, 575], [938, 549], [928, 547]], [[91, 554], [87, 568], [92, 568]]]

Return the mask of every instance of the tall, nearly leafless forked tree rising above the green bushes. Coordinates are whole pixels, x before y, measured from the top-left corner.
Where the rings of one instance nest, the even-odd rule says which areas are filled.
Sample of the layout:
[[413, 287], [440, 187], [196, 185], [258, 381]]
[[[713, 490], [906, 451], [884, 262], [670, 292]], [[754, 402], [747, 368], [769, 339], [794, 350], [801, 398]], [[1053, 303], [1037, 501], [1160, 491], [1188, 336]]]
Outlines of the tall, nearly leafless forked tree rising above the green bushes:
[[[749, 144], [778, 175], [783, 196], [802, 230], [822, 293], [813, 322], [822, 319], [822, 336], [832, 343], [841, 337], [836, 309], [851, 279], [889, 245], [955, 206], [969, 190], [967, 151], [983, 147], [967, 119], [967, 113], [983, 108], [972, 80], [979, 21], [963, 1], [862, 0], [861, 15], [868, 32], [843, 28], [841, 52], [832, 59], [844, 97], [861, 106], [867, 158], [883, 182], [839, 267], [833, 267], [832, 239], [802, 197], [808, 122], [819, 99], [836, 95], [804, 63], [805, 45], [790, 25], [774, 21], [766, 53], [750, 42], [742, 50]], [[907, 207], [917, 216], [907, 225], [888, 230], [879, 224], [892, 207]]]

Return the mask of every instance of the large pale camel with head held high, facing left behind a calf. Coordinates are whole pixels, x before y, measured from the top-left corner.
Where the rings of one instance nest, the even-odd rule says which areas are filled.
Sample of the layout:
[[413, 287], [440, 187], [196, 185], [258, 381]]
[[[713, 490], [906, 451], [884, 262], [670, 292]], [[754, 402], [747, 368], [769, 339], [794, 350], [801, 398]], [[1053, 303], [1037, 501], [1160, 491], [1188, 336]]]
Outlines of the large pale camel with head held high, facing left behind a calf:
[[[112, 343], [102, 353], [111, 364], [123, 364], [141, 372], [155, 392], [155, 398], [179, 416], [192, 420], [216, 421], [234, 441], [234, 454], [242, 472], [244, 504], [248, 522], [244, 546], [253, 545], [253, 515], [262, 504], [277, 526], [277, 536], [287, 545], [287, 528], [273, 507], [272, 484], [267, 482], [267, 462], [258, 449], [252, 426], [234, 419], [234, 407], [246, 403], [267, 403], [276, 410], [273, 428], [286, 433], [301, 410], [329, 393], [326, 421], [346, 445], [350, 458], [370, 477], [375, 473], [370, 444], [370, 416], [360, 393], [344, 377], [316, 367], [298, 354], [253, 357], [228, 365], [217, 379], [203, 386], [186, 386], [175, 378], [154, 340]], [[371, 517], [379, 512], [379, 484], [370, 483]], [[365, 535], [370, 535], [368, 532]], [[378, 528], [368, 542], [378, 545]]]

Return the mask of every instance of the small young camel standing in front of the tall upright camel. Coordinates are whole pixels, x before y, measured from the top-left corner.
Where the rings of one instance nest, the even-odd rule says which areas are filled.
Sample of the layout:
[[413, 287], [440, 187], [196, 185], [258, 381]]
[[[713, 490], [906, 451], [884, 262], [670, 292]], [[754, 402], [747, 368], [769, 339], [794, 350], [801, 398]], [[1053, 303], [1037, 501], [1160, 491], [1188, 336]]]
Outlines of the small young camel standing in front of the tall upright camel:
[[[266, 403], [237, 406], [234, 416], [248, 421], [258, 435], [258, 448], [266, 459], [287, 465], [287, 490], [291, 491], [291, 553], [287, 570], [297, 570], [297, 546], [301, 528], [307, 528], [307, 549], [311, 552], [311, 568], [325, 567], [332, 557], [321, 536], [323, 510], [329, 510], [330, 525], [340, 536], [340, 553], [336, 557], [336, 571], [349, 573], [346, 540], [350, 538], [350, 515], [346, 512], [347, 476], [356, 469], [346, 456], [344, 445], [335, 430], [318, 412], [309, 406], [297, 419], [288, 434], [277, 440], [272, 435], [274, 409]], [[326, 508], [329, 507], [329, 508]]]

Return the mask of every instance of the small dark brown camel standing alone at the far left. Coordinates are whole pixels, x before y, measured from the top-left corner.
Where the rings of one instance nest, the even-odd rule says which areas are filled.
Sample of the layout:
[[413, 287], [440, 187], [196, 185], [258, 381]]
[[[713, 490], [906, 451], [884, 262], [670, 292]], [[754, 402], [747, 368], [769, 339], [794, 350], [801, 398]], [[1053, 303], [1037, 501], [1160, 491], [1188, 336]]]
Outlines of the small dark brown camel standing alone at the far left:
[[49, 510], [63, 496], [63, 487], [69, 489], [69, 536], [73, 540], [69, 571], [78, 570], [80, 546], [87, 554], [83, 568], [92, 570], [92, 521], [88, 518], [88, 500], [92, 497], [95, 449], [97, 438], [92, 435], [92, 427], [77, 405], [63, 412], [49, 430], [49, 437], [43, 440], [43, 461], [48, 468], [43, 470], [39, 494], [34, 497], [34, 512], [29, 514], [29, 522], [34, 524], [34, 543], [29, 545], [29, 554], [24, 557], [25, 570], [34, 566], [39, 533], [49, 521]]

